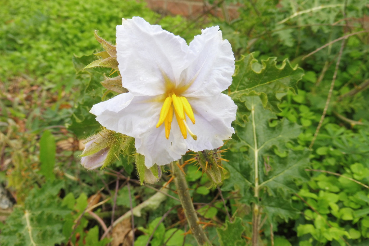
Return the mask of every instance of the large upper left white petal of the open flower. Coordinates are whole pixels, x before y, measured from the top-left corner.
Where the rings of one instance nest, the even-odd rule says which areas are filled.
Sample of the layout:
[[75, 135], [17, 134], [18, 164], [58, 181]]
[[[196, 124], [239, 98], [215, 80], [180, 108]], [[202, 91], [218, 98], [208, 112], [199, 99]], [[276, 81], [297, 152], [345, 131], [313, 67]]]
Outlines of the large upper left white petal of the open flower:
[[188, 66], [186, 41], [140, 17], [123, 19], [116, 41], [123, 87], [135, 96], [163, 94], [164, 75], [175, 83]]

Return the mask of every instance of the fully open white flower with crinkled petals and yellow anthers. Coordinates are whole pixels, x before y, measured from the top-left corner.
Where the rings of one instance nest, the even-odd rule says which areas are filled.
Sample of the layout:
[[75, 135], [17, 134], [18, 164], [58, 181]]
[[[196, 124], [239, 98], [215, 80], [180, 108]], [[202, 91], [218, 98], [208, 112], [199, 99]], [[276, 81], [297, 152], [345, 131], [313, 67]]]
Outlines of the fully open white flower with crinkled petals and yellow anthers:
[[231, 138], [237, 106], [221, 92], [232, 82], [234, 55], [219, 27], [202, 30], [188, 46], [133, 17], [117, 26], [116, 41], [122, 84], [130, 92], [90, 112], [107, 129], [134, 137], [146, 167], [178, 160], [188, 150], [218, 148]]

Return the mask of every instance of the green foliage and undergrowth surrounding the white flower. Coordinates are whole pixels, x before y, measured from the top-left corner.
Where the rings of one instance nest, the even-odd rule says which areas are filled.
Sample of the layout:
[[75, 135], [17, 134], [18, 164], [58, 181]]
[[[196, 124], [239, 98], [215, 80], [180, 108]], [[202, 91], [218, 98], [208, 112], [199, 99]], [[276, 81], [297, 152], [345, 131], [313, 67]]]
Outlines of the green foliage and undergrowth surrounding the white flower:
[[[88, 111], [106, 94], [99, 81], [110, 72], [82, 70], [101, 51], [93, 31], [114, 42], [115, 26], [132, 16], [188, 42], [220, 25], [238, 60], [226, 92], [239, 110], [224, 146], [224, 184], [208, 189], [197, 166], [185, 167], [214, 245], [251, 245], [255, 220], [259, 245], [368, 245], [366, 1], [239, 1], [231, 22], [163, 16], [136, 1], [0, 3], [0, 194], [14, 203], [1, 203], [1, 245], [193, 245], [175, 187], [171, 197], [153, 190], [170, 173], [139, 186], [129, 157], [104, 171], [79, 164], [80, 140], [99, 130]], [[154, 202], [137, 210], [133, 225], [126, 216], [102, 239], [104, 226], [145, 201]]]

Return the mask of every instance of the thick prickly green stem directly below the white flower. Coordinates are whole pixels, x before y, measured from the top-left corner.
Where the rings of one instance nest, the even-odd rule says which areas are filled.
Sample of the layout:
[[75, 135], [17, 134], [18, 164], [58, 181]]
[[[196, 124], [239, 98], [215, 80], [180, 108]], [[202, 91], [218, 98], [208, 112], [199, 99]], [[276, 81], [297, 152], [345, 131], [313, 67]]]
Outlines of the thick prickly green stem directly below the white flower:
[[172, 169], [172, 175], [177, 187], [179, 200], [181, 201], [183, 212], [184, 215], [186, 215], [192, 235], [196, 239], [198, 245], [211, 245], [203, 228], [199, 224], [199, 218], [197, 218], [195, 208], [193, 207], [186, 178], [184, 177], [182, 170], [179, 168], [178, 162], [170, 163], [170, 169]]

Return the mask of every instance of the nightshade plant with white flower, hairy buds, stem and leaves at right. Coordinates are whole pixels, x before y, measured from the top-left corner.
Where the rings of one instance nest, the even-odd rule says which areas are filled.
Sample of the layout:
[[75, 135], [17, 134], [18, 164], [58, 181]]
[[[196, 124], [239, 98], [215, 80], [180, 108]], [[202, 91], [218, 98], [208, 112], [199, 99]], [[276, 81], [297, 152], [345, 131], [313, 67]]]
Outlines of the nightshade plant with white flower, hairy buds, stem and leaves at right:
[[[142, 184], [158, 181], [159, 166], [170, 163], [190, 231], [199, 245], [211, 243], [199, 226], [182, 167], [199, 164], [216, 187], [224, 181], [224, 165], [231, 178], [225, 180], [223, 190], [238, 190], [242, 202], [253, 204], [252, 244], [258, 245], [262, 214], [275, 226], [277, 218], [293, 218], [296, 211], [286, 200], [296, 191], [294, 182], [306, 178], [303, 167], [308, 164], [308, 152], [294, 149], [292, 143], [299, 127], [276, 117], [280, 98], [289, 89], [297, 90], [303, 72], [288, 60], [281, 66], [275, 58], [258, 63], [252, 54], [235, 63], [231, 46], [218, 29], [203, 30], [189, 45], [140, 17], [123, 19], [117, 26], [116, 46], [95, 32], [105, 51], [96, 53], [102, 59], [85, 68], [103, 66], [118, 72], [101, 82], [118, 94], [93, 105], [90, 112], [107, 130], [87, 139], [82, 164], [87, 169], [104, 168], [113, 156], [133, 155]], [[237, 117], [231, 98], [238, 106]], [[236, 132], [231, 127], [234, 120]], [[221, 157], [226, 152], [220, 150], [223, 140], [228, 140], [229, 163]], [[197, 152], [195, 157], [185, 155], [189, 150]], [[221, 245], [243, 245], [247, 228], [241, 219], [229, 219], [243, 229], [231, 242], [226, 236], [234, 233], [227, 232], [231, 226], [218, 229]]]

